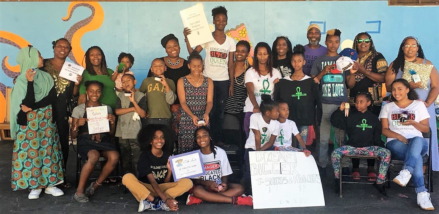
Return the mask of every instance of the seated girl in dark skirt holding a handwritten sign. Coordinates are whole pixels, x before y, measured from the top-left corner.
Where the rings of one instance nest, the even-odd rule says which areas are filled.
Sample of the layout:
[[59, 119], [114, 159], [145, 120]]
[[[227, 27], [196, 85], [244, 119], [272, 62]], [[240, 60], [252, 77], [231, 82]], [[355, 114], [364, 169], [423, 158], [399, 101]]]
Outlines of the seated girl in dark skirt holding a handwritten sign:
[[[114, 137], [115, 133], [115, 116], [113, 115], [112, 108], [108, 105], [101, 104], [98, 100], [102, 95], [102, 88], [104, 84], [98, 81], [86, 81], [84, 83], [86, 87], [86, 95], [89, 100], [86, 103], [78, 105], [72, 112], [72, 130], [70, 134], [72, 138], [77, 138], [78, 153], [81, 159], [86, 161], [81, 169], [81, 175], [79, 177], [78, 188], [73, 195], [76, 201], [80, 203], [89, 202], [89, 197], [94, 194], [96, 189], [102, 185], [108, 175], [113, 172], [117, 162], [119, 161], [119, 153], [114, 144], [112, 144], [110, 137]], [[106, 133], [94, 133], [89, 134], [90, 127], [87, 124], [87, 108], [106, 106], [107, 107], [107, 119], [110, 127], [110, 131]], [[94, 115], [94, 114], [93, 114]], [[92, 116], [88, 116], [90, 118]], [[107, 159], [104, 167], [102, 168], [99, 178], [90, 184], [90, 186], [84, 191], [85, 183], [94, 170], [99, 158], [104, 157]]]

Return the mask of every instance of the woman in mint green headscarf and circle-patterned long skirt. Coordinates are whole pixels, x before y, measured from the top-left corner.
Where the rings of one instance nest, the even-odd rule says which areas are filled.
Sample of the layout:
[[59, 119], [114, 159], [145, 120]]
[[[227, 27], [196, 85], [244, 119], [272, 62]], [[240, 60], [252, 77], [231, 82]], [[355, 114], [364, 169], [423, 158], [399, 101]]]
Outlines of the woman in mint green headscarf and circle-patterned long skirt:
[[38, 69], [43, 57], [32, 46], [18, 52], [20, 75], [11, 92], [12, 190], [30, 189], [37, 199], [43, 188], [53, 196], [64, 193], [55, 185], [64, 182], [61, 145], [52, 114], [56, 99], [50, 74]]

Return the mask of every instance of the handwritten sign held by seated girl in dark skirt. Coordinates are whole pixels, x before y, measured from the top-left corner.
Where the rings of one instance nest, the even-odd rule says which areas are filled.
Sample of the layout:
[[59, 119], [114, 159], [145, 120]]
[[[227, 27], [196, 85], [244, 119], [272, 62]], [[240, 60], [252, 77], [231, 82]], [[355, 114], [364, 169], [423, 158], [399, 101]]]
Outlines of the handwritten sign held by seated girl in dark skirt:
[[88, 133], [103, 133], [110, 131], [107, 119], [108, 109], [106, 105], [87, 108]]

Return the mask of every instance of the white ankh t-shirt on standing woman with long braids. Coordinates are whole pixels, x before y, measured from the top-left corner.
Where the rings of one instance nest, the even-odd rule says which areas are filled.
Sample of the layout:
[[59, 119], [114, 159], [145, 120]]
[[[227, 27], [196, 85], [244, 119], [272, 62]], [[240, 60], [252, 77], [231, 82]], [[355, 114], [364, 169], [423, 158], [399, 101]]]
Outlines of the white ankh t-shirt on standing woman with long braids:
[[[262, 95], [271, 95], [273, 94], [274, 89], [274, 83], [273, 81], [276, 78], [282, 79], [281, 72], [277, 70], [276, 68], [273, 68], [272, 70], [273, 77], [270, 77], [270, 74], [267, 74], [266, 76], [260, 76], [256, 70], [251, 67], [247, 70], [245, 73], [245, 83], [251, 82], [253, 83], [253, 87], [255, 88], [255, 97], [256, 102], [258, 105], [261, 105], [261, 96]], [[245, 99], [245, 106], [244, 106], [244, 112], [252, 112], [253, 111], [253, 104], [250, 101], [250, 98], [247, 97]]]

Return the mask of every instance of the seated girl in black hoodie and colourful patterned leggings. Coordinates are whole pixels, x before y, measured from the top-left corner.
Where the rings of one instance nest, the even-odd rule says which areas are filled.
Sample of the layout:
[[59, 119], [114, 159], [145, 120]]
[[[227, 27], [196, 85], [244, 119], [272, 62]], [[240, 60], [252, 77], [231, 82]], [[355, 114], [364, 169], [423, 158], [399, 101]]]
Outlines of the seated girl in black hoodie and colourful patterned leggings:
[[[360, 92], [355, 98], [356, 109], [350, 111], [348, 116], [345, 114], [349, 111], [349, 109], [345, 109], [346, 102], [342, 102], [340, 108], [331, 115], [331, 124], [345, 130], [349, 138], [344, 146], [335, 149], [331, 155], [335, 175], [334, 189], [337, 193], [340, 191], [340, 159], [343, 155], [371, 155], [381, 158], [380, 169], [374, 187], [381, 194], [387, 196], [384, 182], [389, 168], [390, 151], [384, 148], [384, 142], [381, 140], [381, 123], [378, 117], [367, 109], [372, 102], [371, 93]], [[360, 160], [356, 158], [356, 161], [352, 160], [352, 171], [354, 172], [359, 171]], [[355, 177], [353, 178], [355, 179]]]

